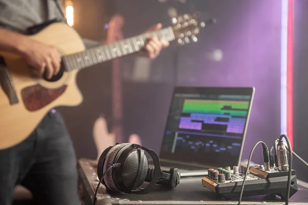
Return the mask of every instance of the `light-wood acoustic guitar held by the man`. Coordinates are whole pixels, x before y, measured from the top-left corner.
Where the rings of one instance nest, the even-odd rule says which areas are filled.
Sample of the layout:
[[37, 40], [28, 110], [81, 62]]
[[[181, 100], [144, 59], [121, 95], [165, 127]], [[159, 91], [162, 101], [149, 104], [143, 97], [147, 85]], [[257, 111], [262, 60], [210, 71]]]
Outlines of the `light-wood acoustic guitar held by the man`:
[[76, 85], [76, 75], [81, 69], [138, 52], [149, 37], [165, 38], [169, 42], [177, 39], [179, 43], [188, 43], [191, 37], [196, 41], [200, 27], [205, 26], [188, 14], [172, 18], [172, 24], [159, 31], [85, 49], [81, 36], [72, 27], [52, 23], [29, 36], [61, 53], [61, 70], [51, 79], [37, 77], [21, 56], [0, 52], [8, 68], [0, 70], [0, 149], [26, 139], [52, 108], [80, 105], [83, 96]]

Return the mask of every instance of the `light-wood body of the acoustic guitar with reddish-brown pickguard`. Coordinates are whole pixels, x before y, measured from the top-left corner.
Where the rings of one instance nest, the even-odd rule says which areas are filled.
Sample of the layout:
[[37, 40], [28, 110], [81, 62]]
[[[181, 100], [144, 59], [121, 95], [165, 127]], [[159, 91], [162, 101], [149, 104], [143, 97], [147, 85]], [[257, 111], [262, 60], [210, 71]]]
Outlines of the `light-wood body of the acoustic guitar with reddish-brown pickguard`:
[[[61, 55], [85, 50], [79, 34], [64, 23], [49, 25], [30, 38], [57, 48]], [[11, 105], [8, 95], [0, 89], [0, 149], [26, 139], [52, 108], [82, 103], [83, 97], [76, 85], [78, 69], [63, 71], [59, 80], [51, 82], [33, 76], [20, 56], [4, 52], [0, 55], [6, 61], [18, 98], [18, 103]]]

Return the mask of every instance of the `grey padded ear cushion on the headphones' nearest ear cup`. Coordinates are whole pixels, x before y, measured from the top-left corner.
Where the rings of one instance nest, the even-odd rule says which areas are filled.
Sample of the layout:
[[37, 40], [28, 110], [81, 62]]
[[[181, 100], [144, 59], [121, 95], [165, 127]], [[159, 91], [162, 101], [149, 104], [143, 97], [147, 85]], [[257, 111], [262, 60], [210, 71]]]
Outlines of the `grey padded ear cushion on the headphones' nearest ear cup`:
[[[116, 162], [114, 161], [115, 157], [117, 156], [118, 152], [119, 152], [123, 147], [125, 147], [126, 145], [130, 145], [130, 144], [128, 144], [128, 143], [118, 144], [118, 145], [113, 146], [113, 147], [110, 149], [110, 151], [108, 152], [108, 154], [107, 154], [107, 156], [106, 156], [105, 162], [104, 162], [104, 167], [103, 167], [104, 172], [106, 172], [107, 169], [113, 165], [113, 163], [116, 163]], [[106, 185], [106, 187], [107, 187], [109, 190], [111, 190], [111, 191], [120, 191], [120, 190], [114, 185], [113, 178], [112, 178], [112, 172], [113, 172], [113, 170], [111, 169], [111, 170], [106, 174], [106, 176], [104, 177], [105, 185]]]

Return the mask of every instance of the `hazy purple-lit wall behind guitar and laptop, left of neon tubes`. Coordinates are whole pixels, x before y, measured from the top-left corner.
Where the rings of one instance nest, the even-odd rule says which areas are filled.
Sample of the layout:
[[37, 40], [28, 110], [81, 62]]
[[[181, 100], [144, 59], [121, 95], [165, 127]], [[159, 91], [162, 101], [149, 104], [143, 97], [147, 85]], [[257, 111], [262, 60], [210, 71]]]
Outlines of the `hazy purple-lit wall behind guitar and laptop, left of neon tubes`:
[[[200, 11], [202, 20], [217, 18], [216, 25], [202, 30], [197, 43], [180, 47], [174, 42], [152, 61], [136, 56], [122, 58], [126, 137], [137, 133], [145, 147], [159, 152], [175, 85], [256, 87], [243, 158], [257, 141], [272, 144], [280, 135], [279, 1], [74, 2], [75, 28], [83, 37], [97, 40], [104, 38], [103, 25], [108, 15], [115, 13], [125, 18], [125, 37], [140, 34], [159, 22], [169, 26], [167, 9], [171, 6], [179, 13]], [[221, 51], [222, 59], [215, 59], [214, 51]], [[85, 101], [79, 107], [62, 109], [78, 157], [96, 157], [92, 127], [101, 113], [111, 115], [110, 69], [109, 62], [80, 72], [78, 85]], [[261, 153], [253, 159], [260, 162]]]

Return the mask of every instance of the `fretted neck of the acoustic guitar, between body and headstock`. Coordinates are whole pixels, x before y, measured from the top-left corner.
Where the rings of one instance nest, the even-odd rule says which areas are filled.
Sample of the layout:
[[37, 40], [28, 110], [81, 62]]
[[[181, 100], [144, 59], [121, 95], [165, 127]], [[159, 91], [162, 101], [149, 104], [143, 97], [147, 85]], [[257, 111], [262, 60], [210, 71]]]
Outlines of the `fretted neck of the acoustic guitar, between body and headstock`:
[[144, 48], [149, 37], [166, 39], [169, 42], [175, 39], [172, 27], [167, 27], [159, 31], [120, 40], [114, 44], [106, 44], [79, 53], [66, 55], [62, 57], [62, 60], [67, 71], [87, 68], [140, 51]]

